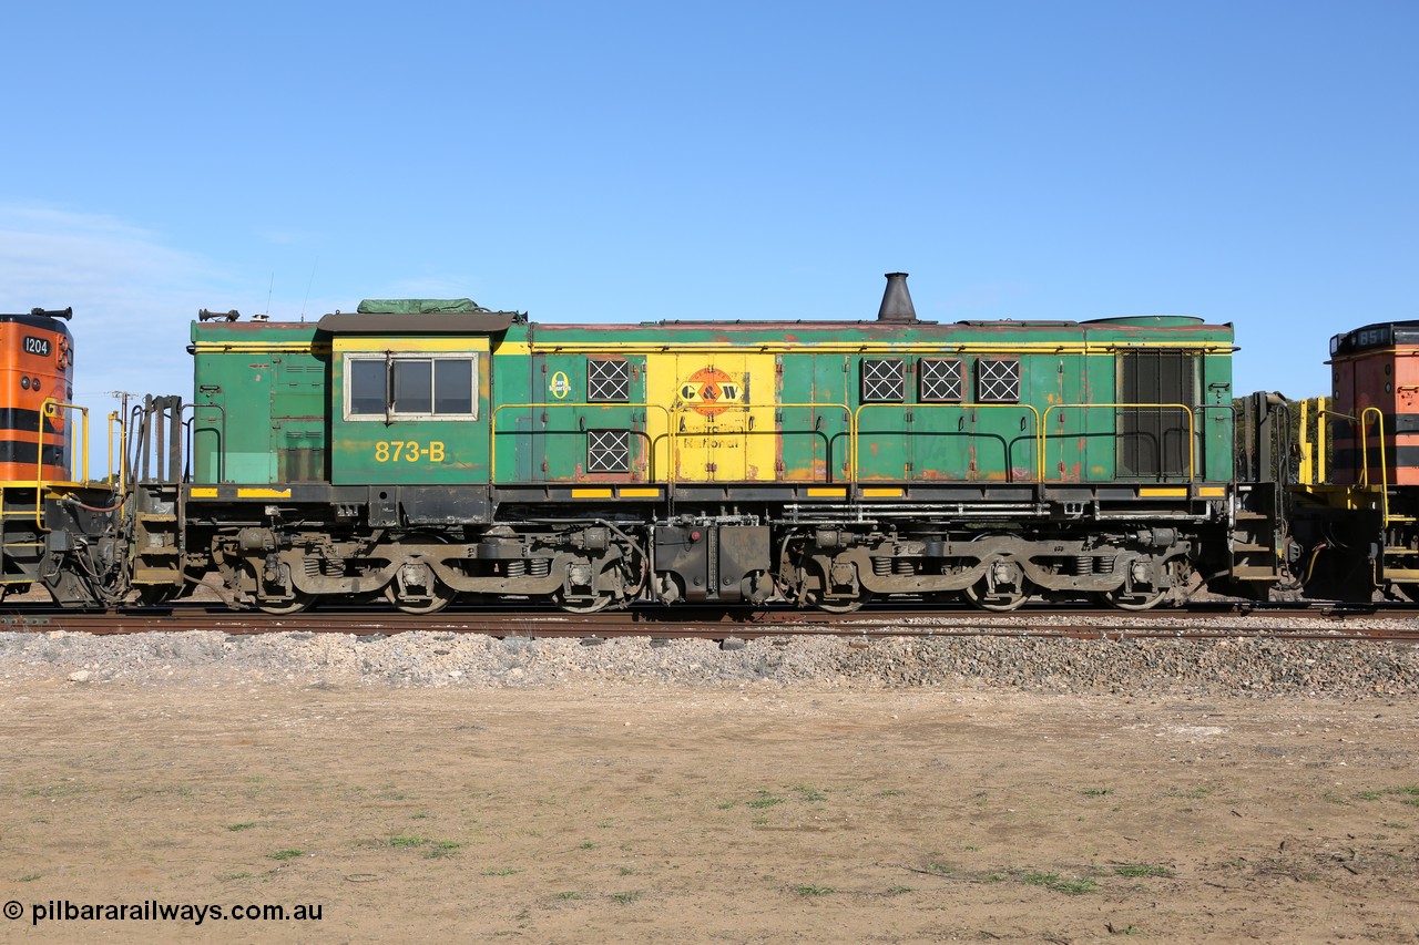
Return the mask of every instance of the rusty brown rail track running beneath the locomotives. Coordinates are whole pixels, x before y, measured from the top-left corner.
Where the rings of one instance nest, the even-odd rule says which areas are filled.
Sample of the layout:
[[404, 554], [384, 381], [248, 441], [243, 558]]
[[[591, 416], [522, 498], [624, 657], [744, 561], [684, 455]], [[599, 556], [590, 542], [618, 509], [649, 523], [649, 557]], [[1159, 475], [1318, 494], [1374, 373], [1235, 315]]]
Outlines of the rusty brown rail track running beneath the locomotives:
[[[1382, 624], [1382, 626], [1376, 626]], [[1118, 610], [1022, 610], [1006, 614], [975, 609], [878, 607], [853, 614], [769, 610], [664, 610], [569, 614], [561, 610], [481, 609], [437, 614], [326, 609], [291, 616], [179, 606], [167, 610], [85, 613], [24, 610], [0, 613], [10, 633], [182, 633], [233, 636], [261, 633], [339, 633], [386, 637], [410, 631], [471, 633], [492, 637], [572, 637], [596, 644], [616, 637], [755, 640], [788, 636], [887, 637], [1059, 637], [1076, 640], [1372, 640], [1419, 643], [1413, 609], [1325, 606], [1199, 604], [1149, 614]]]

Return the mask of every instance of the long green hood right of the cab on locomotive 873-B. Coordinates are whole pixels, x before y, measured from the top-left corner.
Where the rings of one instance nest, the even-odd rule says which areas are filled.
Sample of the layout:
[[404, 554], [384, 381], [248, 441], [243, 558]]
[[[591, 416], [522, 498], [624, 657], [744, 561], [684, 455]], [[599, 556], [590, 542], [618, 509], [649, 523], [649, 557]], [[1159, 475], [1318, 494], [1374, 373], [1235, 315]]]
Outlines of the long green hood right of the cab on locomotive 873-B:
[[[755, 403], [772, 403], [775, 481], [792, 482], [1032, 482], [1046, 481], [1186, 481], [1232, 478], [1229, 325], [1205, 325], [1181, 316], [1145, 316], [1101, 322], [724, 322], [643, 324], [622, 326], [534, 325], [509, 332], [507, 353], [495, 350], [499, 403], [561, 404], [549, 410], [518, 409], [498, 423], [497, 478], [514, 481], [667, 481], [663, 453], [647, 460], [647, 419], [654, 417], [660, 372], [680, 383], [695, 363], [725, 365], [727, 352], [769, 352], [773, 358], [772, 400], [755, 376]], [[511, 348], [508, 343], [511, 342]], [[1193, 448], [1186, 448], [1186, 413], [1155, 409], [1175, 420], [1168, 431], [1181, 450], [1181, 465], [1132, 474], [1121, 460], [1121, 356], [1135, 350], [1185, 352], [1191, 385]], [[531, 358], [528, 356], [531, 352]], [[586, 360], [626, 358], [633, 363], [634, 406], [575, 406], [586, 400]], [[965, 389], [959, 403], [927, 403], [921, 397], [921, 359], [959, 359]], [[901, 359], [907, 366], [904, 399], [863, 406], [863, 362]], [[1019, 402], [981, 402], [982, 360], [1019, 359]], [[562, 377], [561, 387], [553, 379]], [[648, 379], [648, 380], [647, 380]], [[565, 390], [562, 397], [553, 389]], [[1154, 400], [1137, 403], [1155, 403]], [[795, 404], [795, 406], [783, 406]], [[816, 404], [816, 406], [796, 406]], [[846, 410], [839, 406], [846, 404]], [[678, 414], [677, 414], [678, 416]], [[731, 414], [732, 416], [732, 414]], [[854, 417], [854, 420], [849, 420]], [[653, 423], [653, 420], [650, 420]], [[721, 420], [722, 423], [722, 420]], [[856, 448], [849, 431], [856, 423]], [[629, 429], [630, 472], [592, 474], [585, 467], [586, 430]], [[681, 424], [683, 426], [683, 424]], [[1039, 429], [1044, 427], [1043, 457]], [[535, 436], [504, 434], [524, 430]], [[732, 429], [746, 444], [762, 430]], [[657, 438], [663, 444], [664, 438]], [[728, 440], [712, 441], [724, 447]], [[664, 446], [657, 446], [664, 451]], [[683, 453], [683, 450], [681, 450]], [[724, 453], [724, 450], [721, 450]], [[705, 464], [724, 467], [714, 450]], [[761, 464], [762, 465], [762, 464]], [[683, 468], [681, 468], [683, 467]], [[732, 468], [732, 467], [731, 467]], [[678, 464], [673, 478], [691, 481], [731, 477], [695, 474]], [[762, 481], [762, 470], [758, 475]]]

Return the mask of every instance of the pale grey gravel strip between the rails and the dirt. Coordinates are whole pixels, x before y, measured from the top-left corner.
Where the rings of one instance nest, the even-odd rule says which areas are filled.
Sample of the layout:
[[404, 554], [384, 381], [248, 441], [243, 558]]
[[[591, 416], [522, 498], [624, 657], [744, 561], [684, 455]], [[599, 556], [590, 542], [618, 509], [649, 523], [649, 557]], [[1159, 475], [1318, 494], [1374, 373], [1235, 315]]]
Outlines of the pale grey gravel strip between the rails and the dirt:
[[585, 646], [579, 640], [498, 640], [448, 633], [92, 636], [57, 630], [0, 633], [0, 680], [55, 680], [72, 685], [937, 687], [1358, 700], [1419, 692], [1419, 646], [1276, 637], [1210, 641], [773, 637], [731, 640], [724, 646], [620, 639]]

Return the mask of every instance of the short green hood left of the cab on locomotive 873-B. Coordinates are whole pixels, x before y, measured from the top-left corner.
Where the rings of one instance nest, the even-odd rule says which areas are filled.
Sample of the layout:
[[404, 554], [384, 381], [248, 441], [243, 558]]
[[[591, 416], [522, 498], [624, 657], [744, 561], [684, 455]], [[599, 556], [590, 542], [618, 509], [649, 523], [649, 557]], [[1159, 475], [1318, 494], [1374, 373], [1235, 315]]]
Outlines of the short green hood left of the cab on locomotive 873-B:
[[329, 355], [315, 325], [194, 322], [194, 482], [326, 478]]

